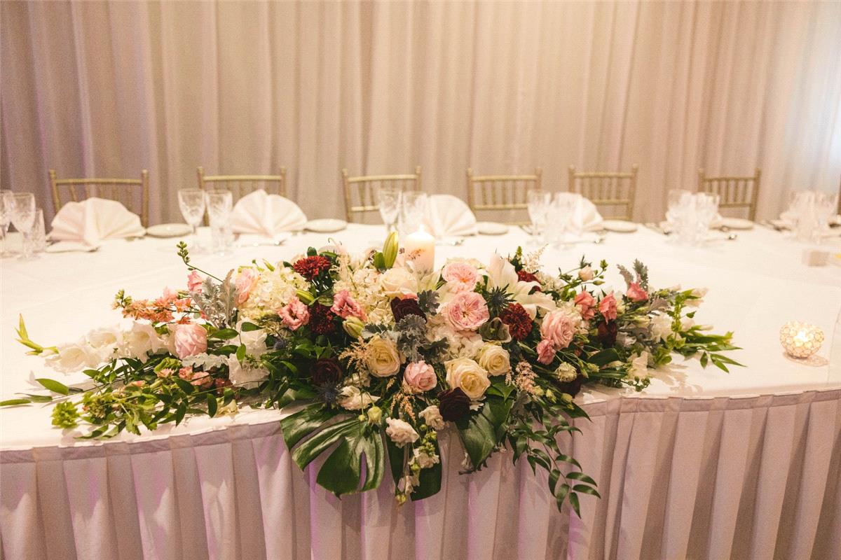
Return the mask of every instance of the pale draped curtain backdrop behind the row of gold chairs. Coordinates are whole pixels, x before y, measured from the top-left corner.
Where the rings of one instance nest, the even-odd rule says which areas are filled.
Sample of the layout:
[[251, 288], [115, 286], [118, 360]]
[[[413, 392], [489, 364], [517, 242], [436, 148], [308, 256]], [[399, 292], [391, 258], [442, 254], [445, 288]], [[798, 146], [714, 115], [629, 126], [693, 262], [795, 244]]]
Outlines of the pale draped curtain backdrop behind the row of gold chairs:
[[309, 217], [340, 170], [640, 165], [636, 217], [696, 170], [763, 170], [759, 216], [841, 180], [841, 3], [3, 2], [3, 188], [47, 170], [151, 177], [180, 220], [195, 170], [288, 168]]

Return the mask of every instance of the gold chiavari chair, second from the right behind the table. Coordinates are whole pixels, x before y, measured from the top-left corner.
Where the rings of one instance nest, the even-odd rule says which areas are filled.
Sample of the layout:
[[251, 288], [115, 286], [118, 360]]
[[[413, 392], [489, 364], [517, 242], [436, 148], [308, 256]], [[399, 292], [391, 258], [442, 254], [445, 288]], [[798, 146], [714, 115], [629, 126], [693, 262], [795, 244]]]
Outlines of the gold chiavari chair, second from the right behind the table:
[[[631, 220], [637, 196], [637, 171], [634, 164], [630, 171], [576, 171], [569, 166], [569, 192], [577, 192], [590, 200], [602, 217], [614, 220]], [[623, 210], [617, 211], [617, 207]]]

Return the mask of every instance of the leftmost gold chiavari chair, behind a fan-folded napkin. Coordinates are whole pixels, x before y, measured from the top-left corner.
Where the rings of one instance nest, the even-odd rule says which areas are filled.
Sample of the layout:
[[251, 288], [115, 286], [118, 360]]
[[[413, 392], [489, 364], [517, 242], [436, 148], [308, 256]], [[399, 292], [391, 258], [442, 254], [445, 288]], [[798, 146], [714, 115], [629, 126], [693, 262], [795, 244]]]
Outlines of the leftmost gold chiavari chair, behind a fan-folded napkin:
[[[140, 215], [143, 227], [149, 225], [149, 171], [140, 171], [140, 179], [58, 179], [50, 170], [53, 210], [58, 213], [67, 202], [91, 196], [118, 201]], [[138, 206], [140, 212], [138, 212]]]

